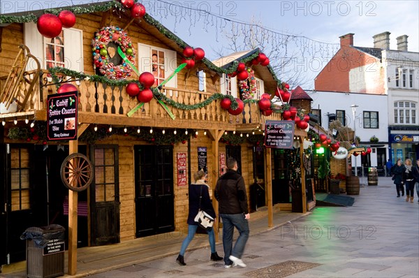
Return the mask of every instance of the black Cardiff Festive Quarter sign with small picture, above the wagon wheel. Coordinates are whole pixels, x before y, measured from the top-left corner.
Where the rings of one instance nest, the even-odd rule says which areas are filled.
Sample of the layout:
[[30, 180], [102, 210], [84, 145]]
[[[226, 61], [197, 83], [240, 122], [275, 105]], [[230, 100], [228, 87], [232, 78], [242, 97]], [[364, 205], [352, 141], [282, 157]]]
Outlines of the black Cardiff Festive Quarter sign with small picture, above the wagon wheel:
[[51, 94], [47, 97], [48, 140], [77, 139], [78, 92]]

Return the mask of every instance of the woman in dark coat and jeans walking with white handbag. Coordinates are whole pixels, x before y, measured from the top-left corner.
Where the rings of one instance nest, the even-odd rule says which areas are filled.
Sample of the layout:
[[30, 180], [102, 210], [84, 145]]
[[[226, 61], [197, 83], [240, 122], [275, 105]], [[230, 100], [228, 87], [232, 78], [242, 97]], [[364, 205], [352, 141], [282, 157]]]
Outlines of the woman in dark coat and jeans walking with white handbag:
[[[188, 248], [189, 243], [193, 240], [193, 236], [198, 229], [198, 223], [195, 221], [196, 214], [199, 211], [199, 201], [202, 192], [202, 198], [200, 207], [201, 210], [210, 214], [212, 218], [215, 219], [216, 215], [214, 212], [214, 207], [212, 207], [212, 202], [210, 199], [210, 186], [205, 184], [205, 172], [203, 170], [199, 170], [195, 175], [193, 175], [195, 183], [189, 185], [189, 215], [188, 215], [188, 235], [184, 239], [182, 243], [182, 247], [180, 248], [179, 256], [177, 256], [176, 261], [179, 265], [186, 265], [184, 261], [184, 254], [186, 248]], [[210, 228], [207, 229], [208, 239], [210, 240], [210, 247], [211, 247], [211, 261], [221, 261], [223, 257], [220, 257], [215, 250], [215, 234], [214, 229]]]

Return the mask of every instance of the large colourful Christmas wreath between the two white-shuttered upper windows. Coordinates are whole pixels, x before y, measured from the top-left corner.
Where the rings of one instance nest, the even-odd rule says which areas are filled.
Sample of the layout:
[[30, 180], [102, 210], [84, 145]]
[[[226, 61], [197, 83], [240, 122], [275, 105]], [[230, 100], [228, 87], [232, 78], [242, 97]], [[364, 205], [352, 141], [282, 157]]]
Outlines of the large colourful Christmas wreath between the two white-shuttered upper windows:
[[95, 34], [92, 41], [94, 66], [101, 75], [110, 79], [125, 79], [133, 71], [119, 55], [118, 47], [131, 63], [135, 63], [135, 50], [124, 29], [108, 26]]

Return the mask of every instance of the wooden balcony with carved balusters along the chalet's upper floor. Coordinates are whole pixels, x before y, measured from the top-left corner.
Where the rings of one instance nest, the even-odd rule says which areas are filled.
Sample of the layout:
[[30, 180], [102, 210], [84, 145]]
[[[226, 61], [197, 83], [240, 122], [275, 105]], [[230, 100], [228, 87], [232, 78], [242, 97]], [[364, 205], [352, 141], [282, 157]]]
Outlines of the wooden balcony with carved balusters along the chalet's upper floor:
[[[4, 80], [5, 78], [0, 78], [0, 86], [3, 85]], [[78, 87], [80, 98], [78, 122], [84, 124], [250, 131], [256, 129], [256, 126], [264, 124], [268, 119], [281, 119], [281, 116], [275, 113], [270, 117], [263, 116], [256, 103], [246, 103], [242, 114], [233, 116], [221, 108], [221, 100], [212, 101], [203, 108], [193, 110], [167, 105], [175, 115], [175, 119], [172, 119], [155, 98], [128, 117], [126, 114], [138, 105], [138, 100], [128, 96], [125, 87], [115, 87], [89, 80], [70, 79], [69, 81]], [[57, 86], [52, 84], [51, 78], [47, 78], [47, 71], [44, 71], [25, 107], [20, 112], [1, 114], [0, 117], [6, 121], [12, 121], [16, 117], [19, 119], [29, 117], [30, 120], [45, 121], [47, 119], [47, 95], [56, 94], [56, 92]], [[170, 87], [163, 87], [161, 93], [181, 105], [202, 103], [212, 96], [207, 92], [193, 92]], [[17, 101], [20, 98], [24, 98], [24, 95], [19, 94]]]

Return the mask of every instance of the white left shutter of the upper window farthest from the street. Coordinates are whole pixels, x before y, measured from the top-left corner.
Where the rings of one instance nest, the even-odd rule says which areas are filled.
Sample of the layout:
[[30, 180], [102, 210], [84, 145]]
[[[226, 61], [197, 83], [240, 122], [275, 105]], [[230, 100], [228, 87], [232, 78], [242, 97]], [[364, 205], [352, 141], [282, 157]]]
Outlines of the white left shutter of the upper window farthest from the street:
[[[45, 68], [44, 51], [43, 51], [43, 36], [39, 34], [36, 24], [34, 22], [24, 23], [24, 44], [29, 48], [29, 51], [41, 63], [41, 68]], [[36, 63], [29, 59], [27, 71], [36, 69]]]

